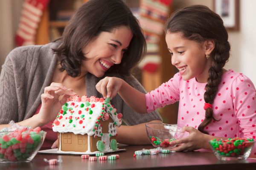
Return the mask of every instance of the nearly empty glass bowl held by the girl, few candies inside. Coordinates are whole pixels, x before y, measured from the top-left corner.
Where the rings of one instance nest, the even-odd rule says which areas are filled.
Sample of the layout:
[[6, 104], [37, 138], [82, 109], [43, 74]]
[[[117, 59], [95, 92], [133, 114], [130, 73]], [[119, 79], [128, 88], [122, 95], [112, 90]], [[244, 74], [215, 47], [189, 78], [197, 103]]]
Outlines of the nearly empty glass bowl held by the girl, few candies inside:
[[146, 123], [148, 138], [154, 147], [172, 148], [169, 142], [183, 137], [184, 132], [181, 127], [165, 123]]

